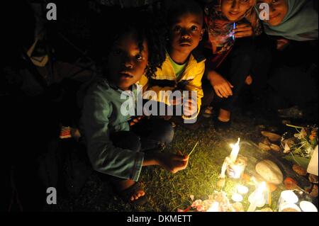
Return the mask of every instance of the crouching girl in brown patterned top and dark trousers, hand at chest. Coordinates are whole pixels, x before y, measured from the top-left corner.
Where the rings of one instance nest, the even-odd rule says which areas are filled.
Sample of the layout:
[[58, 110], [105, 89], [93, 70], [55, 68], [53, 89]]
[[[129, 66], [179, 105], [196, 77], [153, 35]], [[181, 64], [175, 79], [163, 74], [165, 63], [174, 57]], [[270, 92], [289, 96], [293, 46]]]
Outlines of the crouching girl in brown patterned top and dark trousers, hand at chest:
[[[262, 31], [255, 4], [255, 0], [214, 0], [205, 9], [207, 79], [220, 98], [217, 128], [230, 125], [230, 114], [240, 90], [245, 81], [252, 83], [254, 37]], [[207, 94], [205, 86], [204, 91]]]

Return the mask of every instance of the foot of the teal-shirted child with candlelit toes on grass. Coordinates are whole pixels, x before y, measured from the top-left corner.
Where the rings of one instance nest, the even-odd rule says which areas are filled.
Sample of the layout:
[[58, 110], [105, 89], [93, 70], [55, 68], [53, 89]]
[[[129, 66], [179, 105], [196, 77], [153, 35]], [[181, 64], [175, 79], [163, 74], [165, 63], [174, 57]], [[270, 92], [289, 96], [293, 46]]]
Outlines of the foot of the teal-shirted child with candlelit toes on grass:
[[145, 191], [141, 188], [140, 183], [132, 180], [119, 180], [114, 183], [114, 186], [121, 197], [131, 202], [145, 196]]

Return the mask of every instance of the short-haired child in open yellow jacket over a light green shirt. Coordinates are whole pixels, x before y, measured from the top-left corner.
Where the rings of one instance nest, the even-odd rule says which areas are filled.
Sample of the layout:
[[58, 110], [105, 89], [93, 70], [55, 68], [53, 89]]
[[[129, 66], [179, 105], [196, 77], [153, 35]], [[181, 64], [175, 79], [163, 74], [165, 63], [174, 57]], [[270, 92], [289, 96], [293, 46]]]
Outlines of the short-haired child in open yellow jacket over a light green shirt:
[[[182, 105], [182, 118], [194, 121], [203, 97], [201, 79], [205, 72], [205, 58], [195, 50], [204, 33], [203, 10], [194, 1], [177, 1], [167, 13], [167, 25], [166, 60], [154, 76], [142, 77], [140, 84], [144, 89], [147, 86], [147, 91], [155, 91], [157, 101], [167, 106]], [[167, 91], [181, 91], [182, 98], [172, 98]], [[190, 92], [183, 96], [183, 91]]]

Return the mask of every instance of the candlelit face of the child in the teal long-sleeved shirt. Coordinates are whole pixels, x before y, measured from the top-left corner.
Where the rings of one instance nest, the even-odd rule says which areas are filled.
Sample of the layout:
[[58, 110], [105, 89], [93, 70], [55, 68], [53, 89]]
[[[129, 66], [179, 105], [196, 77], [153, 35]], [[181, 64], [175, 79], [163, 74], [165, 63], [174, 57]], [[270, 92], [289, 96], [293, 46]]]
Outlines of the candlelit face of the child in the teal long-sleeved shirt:
[[135, 33], [122, 35], [108, 55], [108, 77], [113, 84], [122, 90], [140, 80], [148, 61], [147, 42], [143, 42], [143, 50], [138, 47]]

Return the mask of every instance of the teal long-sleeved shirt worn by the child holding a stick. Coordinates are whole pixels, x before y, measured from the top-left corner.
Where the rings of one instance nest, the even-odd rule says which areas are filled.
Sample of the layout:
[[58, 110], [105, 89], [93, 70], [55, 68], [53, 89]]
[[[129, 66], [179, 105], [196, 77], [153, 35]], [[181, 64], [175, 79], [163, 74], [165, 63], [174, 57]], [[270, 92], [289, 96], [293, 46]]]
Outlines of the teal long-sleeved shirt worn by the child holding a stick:
[[123, 115], [121, 107], [130, 96], [137, 95], [136, 86], [123, 93], [106, 79], [96, 80], [84, 98], [81, 119], [90, 162], [100, 173], [138, 181], [144, 153], [115, 147], [110, 139], [113, 132], [130, 130], [131, 116]]

